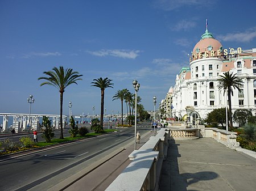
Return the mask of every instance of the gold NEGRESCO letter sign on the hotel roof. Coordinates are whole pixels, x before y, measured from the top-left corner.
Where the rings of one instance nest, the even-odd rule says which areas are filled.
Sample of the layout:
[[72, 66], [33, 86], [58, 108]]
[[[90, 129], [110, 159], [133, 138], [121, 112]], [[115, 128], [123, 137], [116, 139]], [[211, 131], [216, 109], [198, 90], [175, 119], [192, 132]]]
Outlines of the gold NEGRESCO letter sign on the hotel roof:
[[229, 48], [228, 50], [228, 49], [223, 49], [221, 46], [220, 49], [215, 51], [215, 50], [212, 50], [212, 46], [209, 45], [207, 47], [207, 50], [208, 51], [200, 52], [200, 49], [196, 48], [196, 53], [189, 58], [189, 61], [191, 62], [193, 60], [197, 60], [200, 58], [219, 57], [219, 56], [233, 55], [235, 53], [236, 54], [242, 53], [242, 48], [240, 47], [238, 47], [237, 50], [235, 50], [234, 48]]

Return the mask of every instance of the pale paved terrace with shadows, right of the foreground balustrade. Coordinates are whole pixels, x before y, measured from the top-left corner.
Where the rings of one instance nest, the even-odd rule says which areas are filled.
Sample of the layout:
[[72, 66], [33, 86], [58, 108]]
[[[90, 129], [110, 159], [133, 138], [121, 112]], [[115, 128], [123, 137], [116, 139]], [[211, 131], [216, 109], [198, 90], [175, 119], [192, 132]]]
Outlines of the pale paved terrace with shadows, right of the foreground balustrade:
[[212, 138], [169, 141], [160, 191], [252, 191], [256, 188], [256, 159], [230, 150]]

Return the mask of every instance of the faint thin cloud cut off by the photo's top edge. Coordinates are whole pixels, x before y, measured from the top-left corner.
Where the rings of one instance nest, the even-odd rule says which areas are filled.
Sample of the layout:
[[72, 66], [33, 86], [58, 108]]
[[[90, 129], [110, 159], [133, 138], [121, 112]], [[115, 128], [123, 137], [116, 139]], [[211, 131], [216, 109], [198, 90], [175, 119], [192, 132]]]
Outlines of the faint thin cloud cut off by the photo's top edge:
[[210, 0], [156, 0], [154, 6], [158, 9], [171, 11], [183, 6], [209, 6]]

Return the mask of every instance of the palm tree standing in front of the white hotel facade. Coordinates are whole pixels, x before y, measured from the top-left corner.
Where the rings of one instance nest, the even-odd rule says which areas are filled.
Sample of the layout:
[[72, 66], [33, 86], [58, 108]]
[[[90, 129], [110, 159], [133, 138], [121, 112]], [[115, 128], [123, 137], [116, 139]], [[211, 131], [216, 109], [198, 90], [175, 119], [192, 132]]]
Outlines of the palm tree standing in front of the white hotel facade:
[[[240, 86], [243, 86], [243, 81], [242, 79], [237, 78], [236, 74], [226, 72], [223, 75], [220, 75], [220, 78], [218, 79], [218, 89], [220, 90], [221, 88], [224, 89], [224, 94], [225, 91], [228, 90], [228, 101], [229, 101], [229, 122], [230, 122], [230, 128], [233, 128], [233, 122], [232, 122], [232, 106], [231, 106], [231, 95], [233, 96], [233, 88], [238, 91], [240, 90]], [[228, 125], [228, 124], [227, 124]]]

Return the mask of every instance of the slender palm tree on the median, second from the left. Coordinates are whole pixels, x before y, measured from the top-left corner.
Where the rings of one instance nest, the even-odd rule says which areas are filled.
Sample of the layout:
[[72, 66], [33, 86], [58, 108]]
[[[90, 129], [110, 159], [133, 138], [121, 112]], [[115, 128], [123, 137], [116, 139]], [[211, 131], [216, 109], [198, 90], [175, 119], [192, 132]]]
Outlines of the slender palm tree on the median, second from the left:
[[98, 79], [93, 79], [94, 82], [91, 82], [95, 87], [98, 87], [101, 89], [101, 120], [100, 120], [100, 126], [103, 129], [103, 116], [104, 116], [104, 92], [105, 89], [108, 87], [113, 88], [113, 83], [111, 83], [112, 79], [108, 78], [98, 78]]

